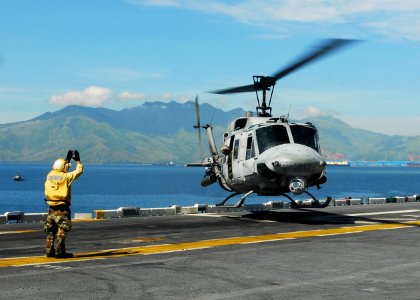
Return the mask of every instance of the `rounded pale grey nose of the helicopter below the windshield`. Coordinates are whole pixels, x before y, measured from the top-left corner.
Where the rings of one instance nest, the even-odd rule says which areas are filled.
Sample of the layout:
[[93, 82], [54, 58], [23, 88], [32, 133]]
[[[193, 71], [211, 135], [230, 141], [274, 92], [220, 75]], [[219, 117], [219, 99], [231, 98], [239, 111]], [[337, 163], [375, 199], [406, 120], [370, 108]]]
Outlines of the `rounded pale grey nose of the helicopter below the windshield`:
[[306, 176], [321, 173], [325, 169], [326, 162], [321, 155], [304, 145], [285, 144], [268, 151], [270, 153], [266, 154], [265, 163], [269, 169], [279, 174]]

